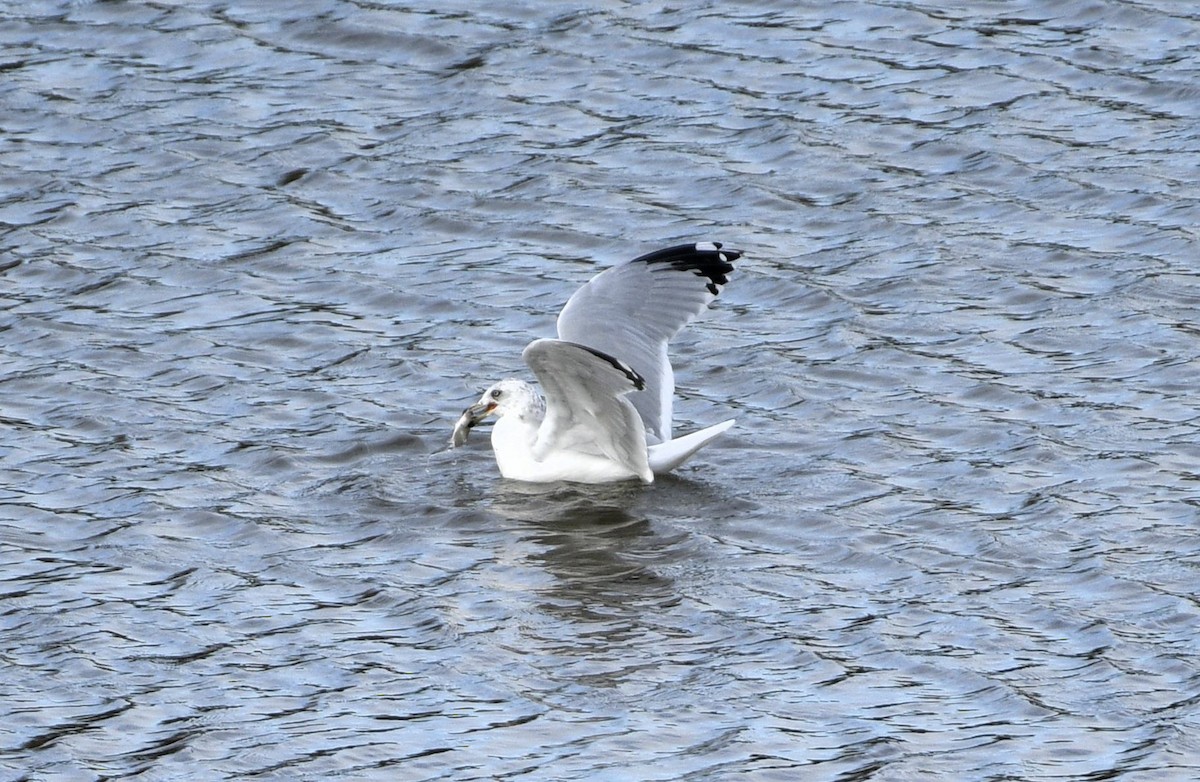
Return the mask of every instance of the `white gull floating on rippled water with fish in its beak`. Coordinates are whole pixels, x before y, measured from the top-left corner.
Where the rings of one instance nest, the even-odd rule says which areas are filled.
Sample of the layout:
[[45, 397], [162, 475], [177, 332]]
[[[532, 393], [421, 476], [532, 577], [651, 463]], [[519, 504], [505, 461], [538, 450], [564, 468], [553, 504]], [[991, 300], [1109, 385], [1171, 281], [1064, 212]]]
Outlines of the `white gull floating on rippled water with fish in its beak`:
[[679, 467], [733, 420], [672, 437], [667, 343], [713, 302], [740, 257], [697, 242], [600, 272], [558, 314], [558, 339], [535, 339], [521, 354], [541, 392], [511, 378], [492, 385], [455, 423], [451, 446], [497, 416], [492, 450], [510, 480], [650, 483]]

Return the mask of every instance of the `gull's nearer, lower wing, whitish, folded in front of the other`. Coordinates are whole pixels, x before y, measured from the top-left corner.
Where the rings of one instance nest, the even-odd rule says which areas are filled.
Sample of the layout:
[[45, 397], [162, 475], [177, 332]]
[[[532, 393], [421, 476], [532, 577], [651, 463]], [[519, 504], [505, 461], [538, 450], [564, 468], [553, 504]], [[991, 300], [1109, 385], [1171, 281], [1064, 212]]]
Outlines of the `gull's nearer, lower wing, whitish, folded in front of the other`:
[[599, 350], [558, 339], [530, 342], [521, 355], [546, 397], [535, 459], [559, 450], [604, 455], [653, 480], [642, 419], [625, 398], [643, 386], [641, 375]]

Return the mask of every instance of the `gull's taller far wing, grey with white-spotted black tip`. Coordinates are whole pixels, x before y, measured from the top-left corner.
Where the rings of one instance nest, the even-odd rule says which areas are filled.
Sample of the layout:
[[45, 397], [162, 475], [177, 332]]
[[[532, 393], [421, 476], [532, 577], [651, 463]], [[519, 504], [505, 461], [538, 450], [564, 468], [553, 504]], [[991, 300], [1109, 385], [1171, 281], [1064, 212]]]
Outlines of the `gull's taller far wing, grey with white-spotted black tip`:
[[644, 379], [629, 401], [653, 443], [671, 439], [667, 343], [712, 303], [740, 257], [719, 242], [660, 249], [600, 272], [558, 315], [560, 339], [616, 356]]

